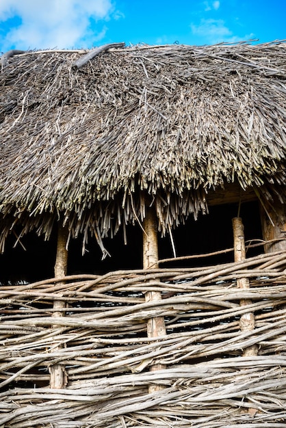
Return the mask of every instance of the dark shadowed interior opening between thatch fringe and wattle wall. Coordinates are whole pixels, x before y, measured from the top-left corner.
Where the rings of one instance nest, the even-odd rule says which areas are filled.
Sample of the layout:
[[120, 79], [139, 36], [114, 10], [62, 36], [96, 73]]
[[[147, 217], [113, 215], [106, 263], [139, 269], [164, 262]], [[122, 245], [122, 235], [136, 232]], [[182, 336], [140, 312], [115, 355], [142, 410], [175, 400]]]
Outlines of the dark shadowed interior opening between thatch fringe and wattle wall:
[[[208, 215], [200, 215], [196, 222], [188, 219], [185, 225], [173, 230], [173, 239], [177, 256], [206, 254], [233, 247], [231, 219], [237, 216], [238, 204], [210, 206]], [[247, 202], [240, 207], [240, 216], [244, 222], [246, 241], [261, 239], [261, 223], [257, 202]], [[104, 245], [111, 257], [101, 260], [101, 250], [94, 239], [86, 246], [82, 256], [81, 237], [70, 241], [68, 252], [68, 275], [77, 273], [103, 274], [107, 271], [142, 268], [142, 229], [139, 225], [127, 226], [127, 245], [124, 244], [122, 230], [113, 239], [105, 239]], [[29, 233], [14, 248], [16, 237], [8, 238], [5, 253], [0, 255], [2, 284], [34, 282], [53, 278], [55, 264], [56, 232], [49, 241]], [[159, 258], [173, 257], [170, 236], [160, 237]], [[24, 250], [24, 248], [25, 250]], [[247, 256], [263, 252], [263, 248], [248, 250]], [[176, 262], [177, 267], [190, 267], [226, 263], [233, 260], [233, 253], [220, 254], [208, 258], [194, 258]], [[174, 263], [165, 264], [172, 267]], [[163, 265], [162, 265], [163, 266]]]

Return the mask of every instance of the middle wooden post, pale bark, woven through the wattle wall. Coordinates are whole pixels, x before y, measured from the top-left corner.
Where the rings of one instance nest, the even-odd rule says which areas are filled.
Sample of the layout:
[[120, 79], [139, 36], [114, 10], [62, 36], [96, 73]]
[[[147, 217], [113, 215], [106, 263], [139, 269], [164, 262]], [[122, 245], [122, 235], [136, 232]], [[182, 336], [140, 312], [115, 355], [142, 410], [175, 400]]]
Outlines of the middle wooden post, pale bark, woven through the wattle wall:
[[[155, 209], [147, 208], [146, 217], [143, 222], [143, 268], [158, 267], [158, 241], [157, 241], [157, 216]], [[161, 300], [159, 291], [147, 291], [145, 294], [146, 302]], [[147, 321], [148, 337], [160, 337], [166, 335], [166, 325], [164, 317], [155, 317]], [[163, 364], [151, 366], [151, 371], [164, 369]], [[159, 386], [150, 386], [149, 392], [157, 391]]]

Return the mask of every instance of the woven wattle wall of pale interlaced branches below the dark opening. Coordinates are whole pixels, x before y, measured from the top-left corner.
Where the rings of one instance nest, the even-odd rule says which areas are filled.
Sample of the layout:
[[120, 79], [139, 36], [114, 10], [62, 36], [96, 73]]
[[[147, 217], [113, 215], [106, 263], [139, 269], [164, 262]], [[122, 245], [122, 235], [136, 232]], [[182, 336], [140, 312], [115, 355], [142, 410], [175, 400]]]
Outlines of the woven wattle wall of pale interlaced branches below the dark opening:
[[[0, 427], [285, 427], [285, 255], [1, 287]], [[167, 334], [148, 338], [158, 316]], [[242, 356], [250, 347], [258, 355]], [[54, 364], [64, 389], [48, 387]]]

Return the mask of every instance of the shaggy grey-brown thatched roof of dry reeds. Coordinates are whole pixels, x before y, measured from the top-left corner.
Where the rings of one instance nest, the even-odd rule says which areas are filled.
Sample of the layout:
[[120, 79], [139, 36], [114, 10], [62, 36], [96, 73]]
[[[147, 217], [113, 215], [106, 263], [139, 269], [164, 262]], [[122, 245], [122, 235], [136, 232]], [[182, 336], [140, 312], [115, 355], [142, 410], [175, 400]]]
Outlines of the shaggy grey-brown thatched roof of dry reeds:
[[3, 235], [49, 235], [59, 213], [105, 235], [147, 194], [165, 230], [227, 183], [285, 200], [285, 42], [122, 47], [78, 69], [83, 54], [2, 61]]

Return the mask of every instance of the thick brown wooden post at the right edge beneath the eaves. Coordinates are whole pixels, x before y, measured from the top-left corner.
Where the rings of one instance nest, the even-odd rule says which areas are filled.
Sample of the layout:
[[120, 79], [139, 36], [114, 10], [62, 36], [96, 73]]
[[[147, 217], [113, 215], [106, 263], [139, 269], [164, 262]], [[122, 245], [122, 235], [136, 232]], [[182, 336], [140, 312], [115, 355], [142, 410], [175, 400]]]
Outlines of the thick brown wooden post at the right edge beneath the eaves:
[[265, 244], [265, 253], [286, 250], [286, 204], [281, 204], [277, 200], [274, 200], [272, 206], [265, 203], [264, 206], [260, 206], [260, 217], [263, 239], [265, 241], [281, 239]]

